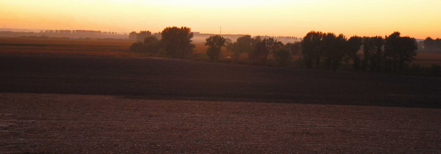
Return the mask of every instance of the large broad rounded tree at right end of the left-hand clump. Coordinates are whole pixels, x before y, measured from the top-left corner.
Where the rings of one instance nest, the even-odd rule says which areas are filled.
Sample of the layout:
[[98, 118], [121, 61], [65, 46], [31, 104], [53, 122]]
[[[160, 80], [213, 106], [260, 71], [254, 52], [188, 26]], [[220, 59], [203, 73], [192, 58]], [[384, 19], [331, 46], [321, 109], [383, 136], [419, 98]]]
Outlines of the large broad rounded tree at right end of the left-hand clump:
[[167, 55], [172, 58], [186, 58], [193, 52], [193, 33], [188, 27], [167, 27], [161, 32], [161, 42]]

